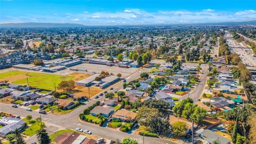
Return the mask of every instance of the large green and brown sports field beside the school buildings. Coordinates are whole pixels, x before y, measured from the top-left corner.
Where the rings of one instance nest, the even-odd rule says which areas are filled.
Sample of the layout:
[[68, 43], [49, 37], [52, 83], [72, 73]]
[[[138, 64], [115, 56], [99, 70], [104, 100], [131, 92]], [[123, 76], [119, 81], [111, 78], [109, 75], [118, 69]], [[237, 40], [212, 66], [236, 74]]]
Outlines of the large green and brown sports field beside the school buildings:
[[13, 84], [27, 85], [27, 77], [31, 87], [51, 91], [54, 90], [54, 83], [56, 86], [58, 86], [61, 81], [70, 81], [73, 78], [73, 76], [61, 76], [15, 70], [1, 73], [0, 81], [7, 80]]

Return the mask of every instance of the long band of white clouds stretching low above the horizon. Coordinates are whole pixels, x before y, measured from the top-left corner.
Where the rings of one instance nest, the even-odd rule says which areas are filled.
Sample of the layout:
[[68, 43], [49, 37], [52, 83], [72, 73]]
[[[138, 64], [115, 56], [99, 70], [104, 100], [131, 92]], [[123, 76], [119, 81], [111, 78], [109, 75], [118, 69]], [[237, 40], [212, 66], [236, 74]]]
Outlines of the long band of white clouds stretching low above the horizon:
[[[0, 0], [1, 1], [1, 0]], [[106, 12], [99, 10], [98, 12], [81, 12], [81, 13], [65, 13], [65, 15], [22, 15], [18, 17], [21, 21], [31, 21], [36, 18], [38, 22], [66, 22], [79, 21], [86, 25], [147, 25], [155, 23], [177, 24], [177, 23], [204, 23], [204, 22], [229, 22], [229, 21], [250, 21], [256, 20], [255, 10], [244, 11], [217, 11], [206, 9], [201, 11], [144, 11], [140, 9], [126, 9], [116, 12]], [[131, 12], [130, 12], [131, 11]], [[13, 20], [17, 17], [5, 15], [5, 19]], [[71, 19], [71, 20], [70, 20]], [[13, 20], [14, 21], [14, 20]]]

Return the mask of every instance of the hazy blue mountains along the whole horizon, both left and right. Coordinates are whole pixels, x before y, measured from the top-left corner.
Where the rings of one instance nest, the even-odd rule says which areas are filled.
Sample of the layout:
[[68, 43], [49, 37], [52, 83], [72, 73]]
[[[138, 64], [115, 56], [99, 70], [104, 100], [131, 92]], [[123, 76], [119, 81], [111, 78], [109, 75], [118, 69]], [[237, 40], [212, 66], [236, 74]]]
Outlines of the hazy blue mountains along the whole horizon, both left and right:
[[[174, 25], [174, 24], [173, 24]], [[205, 25], [256, 25], [254, 21], [242, 22], [217, 22], [217, 23], [183, 23], [174, 26], [205, 26]], [[129, 25], [127, 25], [129, 26]], [[131, 26], [131, 25], [130, 25]], [[164, 25], [166, 26], [166, 25]], [[172, 25], [170, 25], [172, 26]], [[86, 25], [77, 23], [49, 23], [49, 22], [22, 22], [22, 23], [2, 23], [0, 28], [53, 28], [53, 27], [86, 27]]]

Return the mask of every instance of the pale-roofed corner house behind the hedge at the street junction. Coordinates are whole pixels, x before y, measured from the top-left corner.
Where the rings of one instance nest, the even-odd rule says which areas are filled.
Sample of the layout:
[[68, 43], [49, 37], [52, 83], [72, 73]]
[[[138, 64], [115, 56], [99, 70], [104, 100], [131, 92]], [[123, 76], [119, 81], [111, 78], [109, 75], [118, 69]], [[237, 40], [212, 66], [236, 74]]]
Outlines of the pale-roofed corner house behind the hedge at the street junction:
[[114, 113], [114, 108], [109, 106], [96, 106], [90, 111], [90, 113], [93, 116], [102, 115], [109, 117], [112, 113]]

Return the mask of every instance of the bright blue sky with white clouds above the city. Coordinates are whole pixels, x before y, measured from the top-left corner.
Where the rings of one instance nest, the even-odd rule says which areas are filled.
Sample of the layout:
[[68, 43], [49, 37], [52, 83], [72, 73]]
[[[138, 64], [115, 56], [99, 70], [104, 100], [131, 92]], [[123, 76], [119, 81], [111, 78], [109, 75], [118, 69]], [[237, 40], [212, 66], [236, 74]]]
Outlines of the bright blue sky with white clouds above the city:
[[0, 23], [69, 22], [84, 25], [155, 25], [250, 20], [256, 20], [256, 0], [0, 0]]

